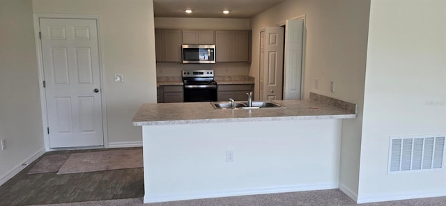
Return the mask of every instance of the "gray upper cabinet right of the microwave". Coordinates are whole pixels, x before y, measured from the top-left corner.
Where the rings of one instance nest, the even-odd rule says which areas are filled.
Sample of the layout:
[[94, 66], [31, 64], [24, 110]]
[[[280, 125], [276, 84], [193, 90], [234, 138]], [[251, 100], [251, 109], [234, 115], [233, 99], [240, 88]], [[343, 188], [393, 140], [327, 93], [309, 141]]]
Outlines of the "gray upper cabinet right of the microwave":
[[217, 62], [249, 62], [250, 31], [215, 31]]

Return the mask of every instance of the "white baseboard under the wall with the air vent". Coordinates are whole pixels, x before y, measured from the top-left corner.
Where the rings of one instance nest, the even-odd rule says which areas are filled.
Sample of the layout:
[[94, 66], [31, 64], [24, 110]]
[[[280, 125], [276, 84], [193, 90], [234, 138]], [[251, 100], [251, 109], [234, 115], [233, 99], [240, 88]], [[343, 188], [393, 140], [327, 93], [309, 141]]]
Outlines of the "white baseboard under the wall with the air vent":
[[385, 193], [377, 195], [357, 196], [357, 204], [361, 203], [376, 203], [394, 200], [409, 200], [417, 198], [435, 198], [446, 196], [446, 189], [433, 190], [433, 191], [419, 191], [419, 192], [407, 192], [407, 193]]

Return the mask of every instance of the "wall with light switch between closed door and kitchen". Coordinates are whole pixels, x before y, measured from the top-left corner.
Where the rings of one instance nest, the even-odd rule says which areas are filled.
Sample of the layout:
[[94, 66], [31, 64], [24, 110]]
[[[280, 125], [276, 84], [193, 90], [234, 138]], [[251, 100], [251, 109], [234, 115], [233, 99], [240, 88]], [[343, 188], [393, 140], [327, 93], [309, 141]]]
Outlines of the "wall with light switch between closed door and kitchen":
[[33, 0], [33, 12], [100, 15], [109, 143], [140, 143], [132, 118], [141, 104], [156, 102], [153, 1]]

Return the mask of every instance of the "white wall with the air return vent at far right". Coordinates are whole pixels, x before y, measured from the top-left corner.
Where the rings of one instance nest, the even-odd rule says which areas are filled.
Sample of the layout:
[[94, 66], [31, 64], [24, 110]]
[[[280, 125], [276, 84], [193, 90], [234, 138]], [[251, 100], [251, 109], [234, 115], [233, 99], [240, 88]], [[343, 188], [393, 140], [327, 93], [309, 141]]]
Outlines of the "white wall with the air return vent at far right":
[[358, 201], [446, 196], [445, 169], [387, 175], [390, 136], [446, 134], [445, 68], [446, 1], [371, 1]]

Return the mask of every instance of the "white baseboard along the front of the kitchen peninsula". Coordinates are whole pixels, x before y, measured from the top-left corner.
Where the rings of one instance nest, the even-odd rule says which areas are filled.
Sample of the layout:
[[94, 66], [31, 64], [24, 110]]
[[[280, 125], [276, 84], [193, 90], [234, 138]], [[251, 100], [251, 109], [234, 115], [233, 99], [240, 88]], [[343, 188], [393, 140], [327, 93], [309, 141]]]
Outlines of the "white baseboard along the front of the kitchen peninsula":
[[323, 189], [337, 189], [338, 182], [327, 184], [302, 184], [282, 187], [260, 187], [252, 189], [234, 189], [226, 191], [208, 191], [208, 192], [181, 192], [181, 193], [166, 193], [162, 195], [151, 195], [146, 193], [144, 195], [144, 203], [160, 203], [178, 200], [193, 200], [202, 198], [222, 198], [229, 196], [247, 196], [259, 195], [267, 193], [285, 193], [296, 191], [312, 191]]

